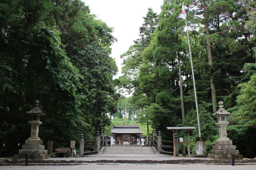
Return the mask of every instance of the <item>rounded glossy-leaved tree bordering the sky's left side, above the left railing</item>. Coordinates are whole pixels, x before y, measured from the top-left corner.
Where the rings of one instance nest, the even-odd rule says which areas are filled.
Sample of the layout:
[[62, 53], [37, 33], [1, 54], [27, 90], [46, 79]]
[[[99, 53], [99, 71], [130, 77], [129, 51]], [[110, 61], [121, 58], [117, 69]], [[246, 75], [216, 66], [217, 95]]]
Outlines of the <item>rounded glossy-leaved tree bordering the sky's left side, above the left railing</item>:
[[93, 115], [93, 125], [102, 128], [109, 112], [109, 96], [115, 93], [112, 77], [117, 73], [116, 62], [109, 53], [108, 47], [93, 42], [83, 50], [74, 49], [71, 56], [71, 62], [86, 77], [81, 80], [82, 88], [78, 91], [84, 101], [81, 110], [86, 115]]

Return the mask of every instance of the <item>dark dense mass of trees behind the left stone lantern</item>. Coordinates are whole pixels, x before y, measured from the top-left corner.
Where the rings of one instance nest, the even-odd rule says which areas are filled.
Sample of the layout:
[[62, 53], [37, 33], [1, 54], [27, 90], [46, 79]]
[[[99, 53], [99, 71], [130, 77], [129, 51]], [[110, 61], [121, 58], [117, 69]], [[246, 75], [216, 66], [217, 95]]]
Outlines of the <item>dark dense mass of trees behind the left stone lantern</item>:
[[0, 157], [13, 156], [29, 137], [34, 100], [46, 113], [39, 137], [68, 147], [110, 124], [115, 94], [113, 28], [80, 0], [0, 3]]

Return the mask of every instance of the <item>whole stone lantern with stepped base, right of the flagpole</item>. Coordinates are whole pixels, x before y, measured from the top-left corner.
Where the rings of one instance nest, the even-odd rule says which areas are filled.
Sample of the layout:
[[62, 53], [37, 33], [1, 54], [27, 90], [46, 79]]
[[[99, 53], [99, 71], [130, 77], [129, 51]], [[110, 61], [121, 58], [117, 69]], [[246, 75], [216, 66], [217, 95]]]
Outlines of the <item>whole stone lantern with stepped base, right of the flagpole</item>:
[[219, 107], [220, 109], [212, 116], [218, 119], [216, 125], [219, 127], [220, 138], [215, 141], [213, 150], [211, 150], [211, 154], [208, 154], [208, 158], [232, 159], [232, 155], [234, 155], [235, 159], [243, 159], [243, 155], [239, 155], [236, 146], [232, 145], [232, 140], [227, 137], [227, 126], [229, 124], [227, 117], [231, 115], [231, 113], [224, 109], [223, 102], [219, 102]]

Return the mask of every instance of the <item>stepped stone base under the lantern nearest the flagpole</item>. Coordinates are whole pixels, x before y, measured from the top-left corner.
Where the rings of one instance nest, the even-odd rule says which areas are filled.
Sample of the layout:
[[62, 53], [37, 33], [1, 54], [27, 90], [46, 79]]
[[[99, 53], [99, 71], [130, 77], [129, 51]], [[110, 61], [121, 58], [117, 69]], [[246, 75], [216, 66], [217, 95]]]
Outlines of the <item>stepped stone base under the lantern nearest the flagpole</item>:
[[235, 159], [243, 159], [243, 155], [239, 155], [235, 145], [232, 145], [232, 140], [217, 140], [211, 154], [208, 154], [208, 158], [231, 160], [232, 155], [235, 156]]

